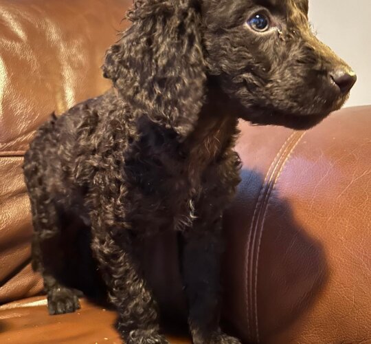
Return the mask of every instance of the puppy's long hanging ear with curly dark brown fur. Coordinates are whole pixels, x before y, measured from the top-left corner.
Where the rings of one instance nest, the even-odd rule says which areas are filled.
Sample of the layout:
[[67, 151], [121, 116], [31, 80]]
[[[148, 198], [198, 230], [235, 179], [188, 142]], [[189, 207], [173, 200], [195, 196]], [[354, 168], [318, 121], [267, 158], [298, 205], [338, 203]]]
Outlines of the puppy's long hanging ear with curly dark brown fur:
[[106, 54], [104, 76], [151, 120], [187, 136], [205, 93], [201, 14], [194, 0], [137, 0]]

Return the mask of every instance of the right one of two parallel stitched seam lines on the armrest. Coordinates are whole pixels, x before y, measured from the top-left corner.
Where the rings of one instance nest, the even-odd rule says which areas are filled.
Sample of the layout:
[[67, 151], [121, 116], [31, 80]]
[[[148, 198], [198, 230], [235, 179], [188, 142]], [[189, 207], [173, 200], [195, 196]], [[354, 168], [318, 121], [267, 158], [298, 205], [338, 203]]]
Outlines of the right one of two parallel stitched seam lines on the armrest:
[[[271, 175], [272, 178], [269, 181], [270, 184], [269, 184], [269, 189], [266, 193], [265, 202], [264, 204], [262, 204], [262, 207], [261, 207], [261, 211], [264, 211], [264, 213], [262, 214], [263, 215], [262, 221], [260, 222], [260, 224], [257, 224], [257, 226], [259, 226], [260, 233], [259, 233], [259, 239], [258, 239], [258, 249], [256, 252], [255, 281], [254, 281], [254, 299], [255, 299], [254, 310], [255, 310], [256, 338], [257, 338], [258, 343], [260, 343], [259, 323], [258, 323], [258, 266], [259, 266], [260, 246], [262, 243], [262, 233], [264, 231], [265, 219], [267, 217], [271, 195], [273, 194], [273, 190], [278, 182], [278, 179], [280, 178], [280, 175], [282, 174], [282, 171], [284, 170], [284, 166], [286, 166], [286, 162], [289, 160], [293, 151], [297, 147], [297, 144], [300, 143], [300, 141], [302, 140], [305, 134], [306, 134], [306, 131], [304, 131], [304, 133], [298, 133], [297, 135], [295, 135], [295, 139], [293, 140], [292, 145], [290, 145], [291, 147], [287, 147], [284, 154], [282, 154], [280, 161], [276, 165], [275, 171], [273, 171]], [[278, 170], [277, 173], [275, 173], [277, 168], [280, 168], [280, 169]]]

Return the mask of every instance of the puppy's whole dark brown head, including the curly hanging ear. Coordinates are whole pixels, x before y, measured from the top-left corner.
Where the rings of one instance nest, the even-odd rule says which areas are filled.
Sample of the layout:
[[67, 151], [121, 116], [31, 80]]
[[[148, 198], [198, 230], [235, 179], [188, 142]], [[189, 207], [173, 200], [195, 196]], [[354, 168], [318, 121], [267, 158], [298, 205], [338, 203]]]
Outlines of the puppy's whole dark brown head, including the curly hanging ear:
[[181, 136], [199, 116], [207, 80], [239, 105], [238, 116], [297, 129], [339, 109], [356, 80], [311, 31], [308, 0], [136, 0], [128, 18], [104, 74]]

